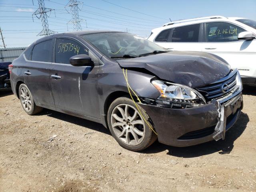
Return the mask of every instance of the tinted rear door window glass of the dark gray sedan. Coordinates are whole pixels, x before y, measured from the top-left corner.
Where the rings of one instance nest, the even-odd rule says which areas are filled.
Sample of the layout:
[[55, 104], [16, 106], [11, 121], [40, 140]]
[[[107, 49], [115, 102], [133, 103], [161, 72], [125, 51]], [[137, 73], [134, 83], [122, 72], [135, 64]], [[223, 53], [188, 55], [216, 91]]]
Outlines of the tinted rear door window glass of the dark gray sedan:
[[32, 61], [52, 62], [52, 40], [36, 44], [32, 50]]

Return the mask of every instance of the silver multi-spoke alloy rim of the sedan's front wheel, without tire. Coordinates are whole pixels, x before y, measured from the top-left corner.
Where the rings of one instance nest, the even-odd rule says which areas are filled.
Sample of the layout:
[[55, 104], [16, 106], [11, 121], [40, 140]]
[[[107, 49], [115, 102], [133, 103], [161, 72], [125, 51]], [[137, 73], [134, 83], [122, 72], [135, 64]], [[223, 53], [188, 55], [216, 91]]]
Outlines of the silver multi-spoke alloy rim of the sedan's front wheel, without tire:
[[119, 104], [112, 110], [111, 124], [118, 139], [127, 145], [136, 146], [144, 139], [144, 121], [138, 110], [129, 104]]

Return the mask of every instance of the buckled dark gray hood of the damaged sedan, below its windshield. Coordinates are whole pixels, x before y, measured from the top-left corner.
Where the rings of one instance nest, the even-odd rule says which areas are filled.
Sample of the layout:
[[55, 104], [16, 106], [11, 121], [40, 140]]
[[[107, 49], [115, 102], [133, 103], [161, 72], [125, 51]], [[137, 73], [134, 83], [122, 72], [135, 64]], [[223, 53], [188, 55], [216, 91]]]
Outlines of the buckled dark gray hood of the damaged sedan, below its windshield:
[[162, 80], [192, 88], [211, 84], [230, 72], [224, 59], [206, 52], [171, 51], [117, 62], [122, 68], [145, 68]]

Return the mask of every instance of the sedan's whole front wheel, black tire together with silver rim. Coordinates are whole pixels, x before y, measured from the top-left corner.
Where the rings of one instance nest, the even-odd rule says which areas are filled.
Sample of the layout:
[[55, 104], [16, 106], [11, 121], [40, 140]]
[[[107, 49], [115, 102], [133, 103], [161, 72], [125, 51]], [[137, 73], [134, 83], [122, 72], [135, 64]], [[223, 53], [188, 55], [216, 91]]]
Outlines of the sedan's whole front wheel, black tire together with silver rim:
[[121, 97], [114, 100], [108, 109], [108, 126], [112, 136], [120, 146], [131, 151], [144, 150], [157, 138], [150, 128], [153, 126], [148, 114], [140, 106], [138, 108], [131, 99]]

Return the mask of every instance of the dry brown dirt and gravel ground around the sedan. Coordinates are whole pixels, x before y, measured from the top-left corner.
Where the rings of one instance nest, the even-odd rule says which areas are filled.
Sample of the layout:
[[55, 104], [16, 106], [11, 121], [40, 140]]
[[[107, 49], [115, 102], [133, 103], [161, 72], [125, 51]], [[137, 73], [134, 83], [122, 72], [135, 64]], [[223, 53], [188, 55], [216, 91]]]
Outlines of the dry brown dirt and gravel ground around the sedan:
[[121, 148], [98, 123], [46, 109], [28, 116], [1, 91], [0, 191], [256, 191], [256, 87], [244, 88], [226, 140], [143, 152]]

